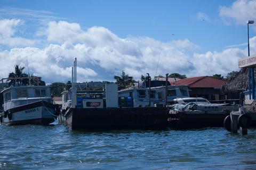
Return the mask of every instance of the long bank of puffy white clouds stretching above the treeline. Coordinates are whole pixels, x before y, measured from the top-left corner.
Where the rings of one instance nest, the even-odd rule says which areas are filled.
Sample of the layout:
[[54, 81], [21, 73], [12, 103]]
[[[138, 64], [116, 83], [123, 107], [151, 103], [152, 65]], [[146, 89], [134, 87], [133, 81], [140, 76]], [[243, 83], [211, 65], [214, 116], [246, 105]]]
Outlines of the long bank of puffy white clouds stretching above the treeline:
[[[14, 35], [15, 30], [10, 32]], [[179, 72], [189, 77], [222, 74], [237, 70], [237, 60], [246, 49], [228, 48], [222, 52], [196, 53], [198, 45], [189, 39], [161, 42], [150, 37], [120, 38], [104, 27], [83, 30], [78, 23], [51, 21], [37, 35], [45, 38], [45, 47], [16, 47], [0, 52], [0, 77], [13, 71], [14, 64], [26, 66], [46, 82], [66, 82], [77, 58], [78, 82], [113, 80], [124, 70], [135, 79], [150, 75]], [[256, 37], [250, 39], [256, 47]], [[253, 53], [253, 50], [252, 50]], [[158, 63], [158, 66], [157, 66]]]

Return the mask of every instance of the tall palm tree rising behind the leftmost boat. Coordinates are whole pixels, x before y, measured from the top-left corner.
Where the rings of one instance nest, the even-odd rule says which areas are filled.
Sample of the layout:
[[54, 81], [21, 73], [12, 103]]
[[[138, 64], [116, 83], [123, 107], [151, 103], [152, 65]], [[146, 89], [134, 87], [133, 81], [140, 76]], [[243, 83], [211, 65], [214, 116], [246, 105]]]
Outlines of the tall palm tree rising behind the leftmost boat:
[[23, 70], [25, 69], [25, 67], [19, 67], [19, 65], [15, 65], [14, 66], [14, 72], [10, 72], [9, 73], [9, 77], [6, 81], [9, 81], [9, 86], [14, 85], [16, 83], [18, 83], [18, 86], [20, 86], [20, 84], [22, 84], [22, 79], [21, 77], [24, 77], [25, 75], [23, 74]]

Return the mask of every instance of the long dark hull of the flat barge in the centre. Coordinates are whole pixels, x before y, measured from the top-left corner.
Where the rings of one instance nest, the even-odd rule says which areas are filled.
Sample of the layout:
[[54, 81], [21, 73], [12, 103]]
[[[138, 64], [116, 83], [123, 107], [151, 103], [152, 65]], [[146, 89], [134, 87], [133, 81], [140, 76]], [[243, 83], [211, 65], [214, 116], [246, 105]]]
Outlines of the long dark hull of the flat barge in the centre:
[[60, 115], [73, 130], [165, 129], [166, 107], [70, 108]]

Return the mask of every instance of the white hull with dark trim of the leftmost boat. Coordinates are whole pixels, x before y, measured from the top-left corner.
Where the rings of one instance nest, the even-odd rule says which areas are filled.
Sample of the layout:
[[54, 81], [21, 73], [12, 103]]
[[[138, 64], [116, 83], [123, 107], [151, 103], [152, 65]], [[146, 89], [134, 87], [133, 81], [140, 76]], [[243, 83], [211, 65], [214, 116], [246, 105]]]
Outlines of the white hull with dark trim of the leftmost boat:
[[54, 122], [54, 104], [38, 101], [5, 111], [2, 123], [6, 125], [48, 125]]

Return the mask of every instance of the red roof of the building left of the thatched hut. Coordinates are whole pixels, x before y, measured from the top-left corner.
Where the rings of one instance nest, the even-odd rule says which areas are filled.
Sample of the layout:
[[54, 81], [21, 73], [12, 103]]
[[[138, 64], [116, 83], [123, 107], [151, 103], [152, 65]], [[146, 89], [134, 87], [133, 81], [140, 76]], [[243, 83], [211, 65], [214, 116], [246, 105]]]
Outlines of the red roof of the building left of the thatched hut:
[[187, 85], [189, 87], [213, 87], [221, 88], [225, 83], [225, 80], [209, 77], [209, 76], [200, 76], [200, 77], [190, 77], [178, 80], [175, 85]]

